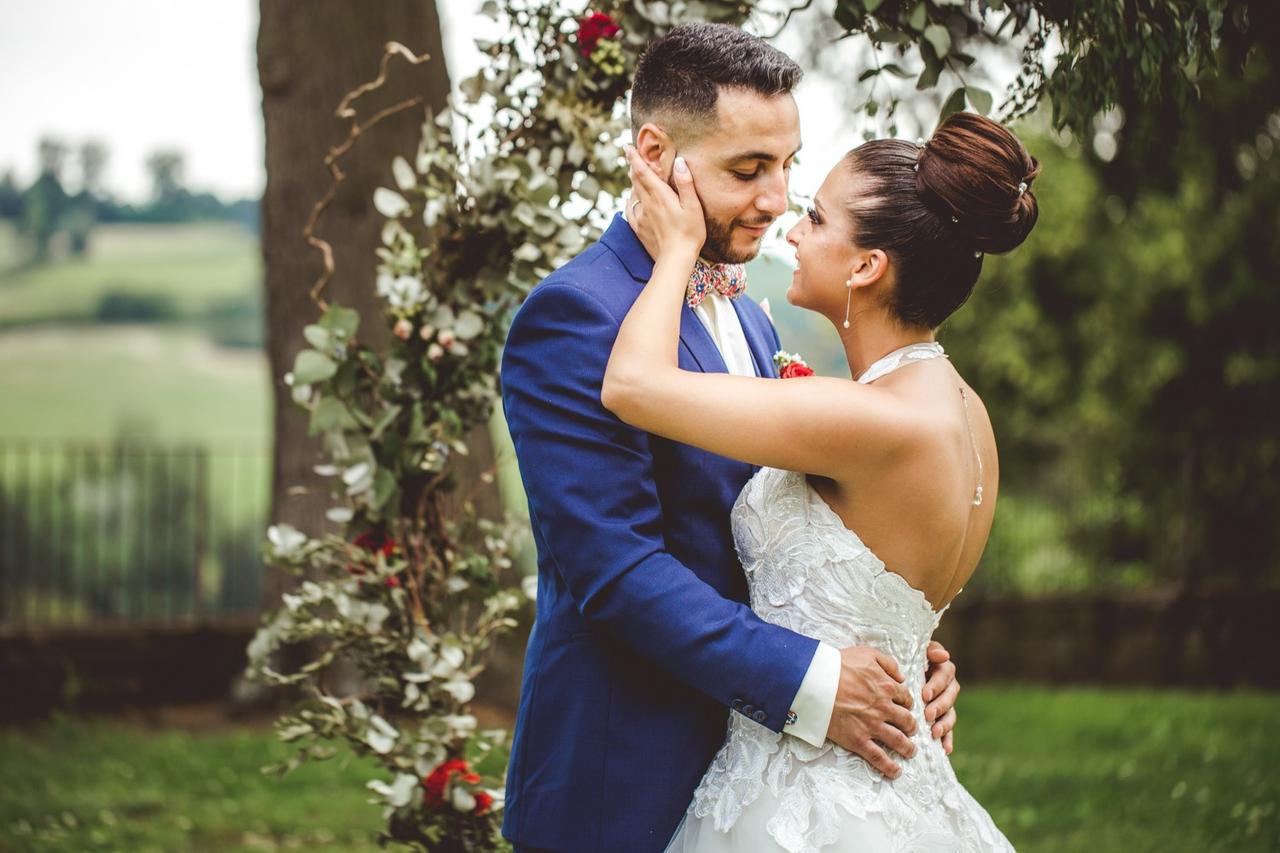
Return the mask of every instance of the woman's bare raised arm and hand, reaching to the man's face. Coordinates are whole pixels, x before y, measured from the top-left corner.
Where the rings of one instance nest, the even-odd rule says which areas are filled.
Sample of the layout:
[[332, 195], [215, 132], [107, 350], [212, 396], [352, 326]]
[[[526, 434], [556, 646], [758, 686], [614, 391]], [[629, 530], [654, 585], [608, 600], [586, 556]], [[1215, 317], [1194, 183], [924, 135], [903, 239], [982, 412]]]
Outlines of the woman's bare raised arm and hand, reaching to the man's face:
[[[769, 379], [677, 366], [680, 313], [704, 240], [694, 179], [676, 192], [628, 150], [634, 199], [657, 259], [604, 374], [602, 402], [632, 426], [753, 465], [842, 479], [908, 452], [922, 424], [892, 394], [844, 379]], [[856, 451], [856, 452], [854, 452]]]

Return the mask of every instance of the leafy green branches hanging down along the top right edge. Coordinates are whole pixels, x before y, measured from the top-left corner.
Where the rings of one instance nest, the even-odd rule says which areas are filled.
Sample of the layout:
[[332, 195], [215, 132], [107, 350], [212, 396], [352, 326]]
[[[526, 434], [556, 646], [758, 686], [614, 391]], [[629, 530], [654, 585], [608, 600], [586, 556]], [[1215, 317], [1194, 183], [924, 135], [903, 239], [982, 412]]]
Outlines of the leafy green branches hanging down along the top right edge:
[[[865, 35], [891, 60], [861, 79], [909, 77], [902, 67], [919, 63], [916, 87], [929, 90], [945, 72], [964, 81], [979, 49], [1019, 46], [1021, 72], [1002, 118], [1025, 115], [1047, 99], [1055, 126], [1082, 136], [1094, 115], [1129, 97], [1187, 106], [1224, 63], [1239, 64], [1266, 44], [1267, 14], [1261, 3], [1229, 0], [837, 0], [835, 10], [849, 35]], [[1225, 56], [1224, 42], [1231, 49]], [[1047, 55], [1055, 44], [1060, 53]], [[942, 115], [965, 101], [986, 114], [992, 100], [963, 85]], [[897, 99], [887, 108], [896, 110]]]

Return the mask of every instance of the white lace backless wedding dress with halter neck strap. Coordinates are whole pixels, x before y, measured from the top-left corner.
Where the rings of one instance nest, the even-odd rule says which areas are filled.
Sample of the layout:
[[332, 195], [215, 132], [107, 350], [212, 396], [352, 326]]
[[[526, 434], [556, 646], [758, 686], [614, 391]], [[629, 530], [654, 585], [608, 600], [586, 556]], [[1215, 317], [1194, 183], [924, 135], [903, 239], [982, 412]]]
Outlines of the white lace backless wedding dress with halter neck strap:
[[[886, 356], [870, 382], [937, 345]], [[895, 360], [896, 357], [896, 360]], [[836, 648], [892, 656], [913, 695], [924, 688], [925, 647], [942, 617], [924, 594], [886, 570], [804, 474], [762, 469], [732, 511], [733, 539], [763, 619]], [[929, 734], [924, 703], [914, 758], [890, 753], [895, 780], [829, 740], [820, 748], [730, 713], [728, 735], [694, 793], [667, 853], [969, 853], [1012, 850], [956, 780]]]

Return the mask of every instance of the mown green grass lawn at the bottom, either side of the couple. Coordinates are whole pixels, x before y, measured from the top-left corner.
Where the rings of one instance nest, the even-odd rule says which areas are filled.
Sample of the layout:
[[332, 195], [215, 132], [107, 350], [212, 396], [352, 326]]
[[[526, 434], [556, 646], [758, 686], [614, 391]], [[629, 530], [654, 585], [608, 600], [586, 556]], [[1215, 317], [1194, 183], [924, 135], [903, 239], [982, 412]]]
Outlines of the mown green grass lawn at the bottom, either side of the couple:
[[[1024, 853], [1280, 849], [1280, 695], [984, 686], [960, 711], [956, 771]], [[266, 730], [0, 733], [0, 849], [376, 849], [372, 766], [259, 772], [282, 754]]]

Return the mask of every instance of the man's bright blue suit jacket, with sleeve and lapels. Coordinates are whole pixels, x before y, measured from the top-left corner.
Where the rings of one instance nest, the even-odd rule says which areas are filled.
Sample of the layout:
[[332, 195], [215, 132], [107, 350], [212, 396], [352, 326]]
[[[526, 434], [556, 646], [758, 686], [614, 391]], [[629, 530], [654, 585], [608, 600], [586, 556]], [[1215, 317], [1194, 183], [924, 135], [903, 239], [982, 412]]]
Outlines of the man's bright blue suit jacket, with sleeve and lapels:
[[[750, 465], [627, 426], [600, 405], [618, 327], [653, 272], [617, 216], [517, 313], [502, 396], [538, 546], [504, 835], [662, 850], [735, 708], [781, 731], [817, 642], [746, 606], [730, 508]], [[733, 302], [760, 375], [772, 323]], [[680, 366], [724, 373], [686, 306]]]

